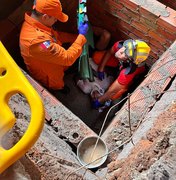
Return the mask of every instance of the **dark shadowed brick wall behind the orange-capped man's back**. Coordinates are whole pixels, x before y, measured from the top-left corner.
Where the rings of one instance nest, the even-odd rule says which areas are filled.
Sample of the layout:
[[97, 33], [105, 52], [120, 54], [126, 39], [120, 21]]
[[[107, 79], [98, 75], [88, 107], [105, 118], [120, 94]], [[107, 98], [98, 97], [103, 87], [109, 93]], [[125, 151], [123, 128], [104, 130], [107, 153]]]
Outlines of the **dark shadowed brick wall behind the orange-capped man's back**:
[[[19, 3], [21, 5], [19, 6]], [[13, 3], [6, 2], [0, 7], [3, 11], [0, 15], [0, 40], [15, 59], [17, 64], [25, 69], [25, 65], [22, 63], [21, 54], [19, 50], [19, 34], [21, 29], [21, 24], [24, 20], [24, 13], [31, 9], [33, 0], [14, 0]], [[7, 10], [7, 12], [6, 12]], [[3, 17], [3, 19], [1, 19]]]

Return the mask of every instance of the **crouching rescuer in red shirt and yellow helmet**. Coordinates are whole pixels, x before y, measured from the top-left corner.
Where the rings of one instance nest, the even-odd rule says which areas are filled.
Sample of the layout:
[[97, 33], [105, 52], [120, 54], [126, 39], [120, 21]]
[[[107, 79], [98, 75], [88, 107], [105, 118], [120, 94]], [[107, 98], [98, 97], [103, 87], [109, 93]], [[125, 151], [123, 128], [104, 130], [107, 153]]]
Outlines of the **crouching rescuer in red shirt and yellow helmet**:
[[103, 95], [92, 99], [92, 107], [98, 109], [127, 92], [135, 77], [146, 71], [145, 60], [149, 53], [150, 47], [146, 42], [133, 39], [118, 41], [107, 51], [95, 52], [93, 60], [98, 64], [98, 78], [104, 79], [106, 66], [117, 68], [118, 76]]

